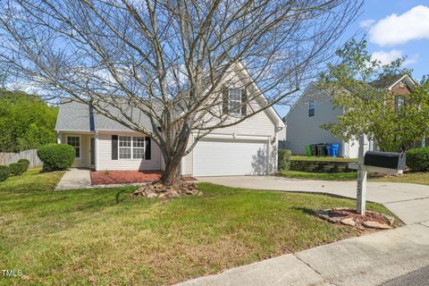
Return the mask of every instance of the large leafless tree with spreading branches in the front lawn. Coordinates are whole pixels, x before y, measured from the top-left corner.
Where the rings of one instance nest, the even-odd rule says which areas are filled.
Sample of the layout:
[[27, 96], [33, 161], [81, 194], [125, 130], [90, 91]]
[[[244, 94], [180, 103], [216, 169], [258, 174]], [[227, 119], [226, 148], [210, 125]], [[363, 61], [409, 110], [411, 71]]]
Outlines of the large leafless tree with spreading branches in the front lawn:
[[[146, 133], [164, 156], [167, 185], [177, 181], [181, 157], [198, 139], [298, 91], [332, 55], [332, 45], [362, 5], [356, 0], [2, 3], [0, 71], [8, 71], [8, 80], [91, 104], [97, 113]], [[260, 107], [240, 116], [225, 112], [225, 84], [246, 88], [238, 108], [255, 101]], [[130, 108], [147, 116], [151, 126], [141, 124]], [[191, 132], [197, 136], [189, 147]]]

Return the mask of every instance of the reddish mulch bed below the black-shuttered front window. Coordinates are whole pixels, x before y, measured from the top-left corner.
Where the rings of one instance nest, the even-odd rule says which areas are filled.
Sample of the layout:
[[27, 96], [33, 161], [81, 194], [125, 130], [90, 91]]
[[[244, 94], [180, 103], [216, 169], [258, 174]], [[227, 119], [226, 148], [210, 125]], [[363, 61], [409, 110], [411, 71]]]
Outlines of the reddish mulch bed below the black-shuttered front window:
[[160, 171], [91, 172], [91, 181], [93, 185], [141, 183], [158, 181], [161, 175]]

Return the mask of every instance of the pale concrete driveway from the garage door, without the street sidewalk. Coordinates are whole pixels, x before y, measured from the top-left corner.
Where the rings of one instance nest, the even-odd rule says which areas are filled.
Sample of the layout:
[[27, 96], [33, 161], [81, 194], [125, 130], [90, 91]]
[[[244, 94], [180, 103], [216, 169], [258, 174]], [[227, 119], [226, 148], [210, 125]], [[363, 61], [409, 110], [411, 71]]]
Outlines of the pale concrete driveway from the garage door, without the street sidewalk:
[[[326, 193], [346, 198], [356, 198], [357, 189], [356, 181], [315, 181], [276, 176], [198, 177], [197, 179], [235, 188]], [[368, 182], [366, 199], [383, 204], [397, 214], [404, 223], [429, 221], [429, 186]]]

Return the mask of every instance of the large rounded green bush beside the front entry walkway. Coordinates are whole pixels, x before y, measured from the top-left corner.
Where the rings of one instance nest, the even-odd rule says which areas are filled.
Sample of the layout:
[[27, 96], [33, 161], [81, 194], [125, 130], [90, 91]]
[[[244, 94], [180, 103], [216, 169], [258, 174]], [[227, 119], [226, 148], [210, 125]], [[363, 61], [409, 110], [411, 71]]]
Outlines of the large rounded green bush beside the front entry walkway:
[[63, 171], [73, 164], [76, 152], [65, 144], [47, 144], [38, 148], [38, 157], [43, 162], [43, 171]]

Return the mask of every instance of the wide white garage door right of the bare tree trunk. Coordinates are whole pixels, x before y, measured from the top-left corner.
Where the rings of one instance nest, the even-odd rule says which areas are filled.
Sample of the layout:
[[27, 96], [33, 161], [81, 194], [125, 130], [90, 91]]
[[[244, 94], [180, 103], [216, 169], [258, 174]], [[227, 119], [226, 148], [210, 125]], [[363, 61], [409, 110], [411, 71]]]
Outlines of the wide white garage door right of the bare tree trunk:
[[250, 175], [266, 172], [266, 142], [206, 139], [194, 148], [194, 176]]

